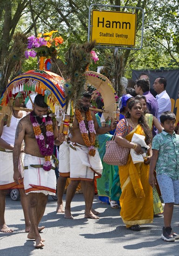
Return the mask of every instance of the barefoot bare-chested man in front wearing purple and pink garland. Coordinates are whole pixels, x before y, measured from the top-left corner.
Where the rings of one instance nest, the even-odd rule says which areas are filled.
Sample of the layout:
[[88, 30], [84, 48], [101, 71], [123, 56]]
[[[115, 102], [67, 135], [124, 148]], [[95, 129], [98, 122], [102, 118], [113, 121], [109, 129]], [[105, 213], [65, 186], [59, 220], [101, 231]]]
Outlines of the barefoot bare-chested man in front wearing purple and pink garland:
[[33, 104], [33, 112], [20, 120], [14, 142], [14, 181], [20, 183], [21, 175], [18, 169], [20, 147], [24, 140], [24, 188], [29, 197], [29, 218], [31, 229], [27, 238], [35, 239], [36, 248], [44, 246], [38, 230], [38, 224], [44, 215], [48, 194], [55, 195], [56, 176], [53, 161], [54, 143], [58, 146], [64, 141], [64, 135], [59, 134], [55, 122], [48, 115], [48, 106], [44, 96], [38, 94]]

